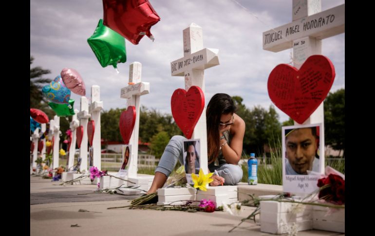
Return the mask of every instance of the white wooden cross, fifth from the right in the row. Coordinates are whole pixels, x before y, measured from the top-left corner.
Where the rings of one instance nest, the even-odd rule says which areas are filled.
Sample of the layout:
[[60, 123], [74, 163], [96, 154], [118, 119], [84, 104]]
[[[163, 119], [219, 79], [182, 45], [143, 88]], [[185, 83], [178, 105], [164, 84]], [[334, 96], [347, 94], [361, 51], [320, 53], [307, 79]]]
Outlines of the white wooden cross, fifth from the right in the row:
[[77, 113], [80, 125], [83, 127], [83, 136], [81, 147], [79, 148], [79, 157], [81, 158], [81, 165], [79, 166], [80, 171], [87, 171], [87, 123], [89, 122], [89, 102], [86, 97], [81, 97], [81, 111]]

